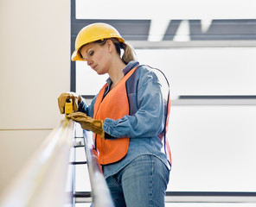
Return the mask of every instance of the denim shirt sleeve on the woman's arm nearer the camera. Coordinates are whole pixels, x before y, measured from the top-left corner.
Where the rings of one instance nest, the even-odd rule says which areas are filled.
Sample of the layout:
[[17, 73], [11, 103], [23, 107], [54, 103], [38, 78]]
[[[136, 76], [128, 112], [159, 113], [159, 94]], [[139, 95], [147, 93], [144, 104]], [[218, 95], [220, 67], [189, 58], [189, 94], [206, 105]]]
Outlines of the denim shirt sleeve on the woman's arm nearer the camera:
[[[152, 137], [164, 127], [164, 103], [157, 75], [150, 70], [140, 72], [137, 90], [138, 110], [133, 116], [113, 120], [106, 118], [106, 139]], [[109, 136], [110, 135], [110, 136]]]

